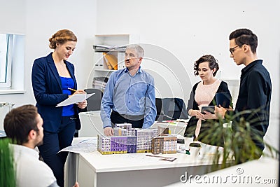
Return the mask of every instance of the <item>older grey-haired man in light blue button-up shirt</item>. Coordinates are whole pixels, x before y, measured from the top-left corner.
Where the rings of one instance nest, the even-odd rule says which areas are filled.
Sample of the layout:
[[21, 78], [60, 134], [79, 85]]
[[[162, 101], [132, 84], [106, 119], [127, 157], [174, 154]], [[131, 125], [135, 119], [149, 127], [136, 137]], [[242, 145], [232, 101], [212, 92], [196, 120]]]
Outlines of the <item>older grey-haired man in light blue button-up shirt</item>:
[[140, 67], [143, 56], [141, 46], [127, 46], [126, 68], [114, 71], [109, 77], [101, 107], [107, 136], [113, 136], [112, 124], [132, 123], [132, 127], [148, 128], [155, 121], [154, 80]]

